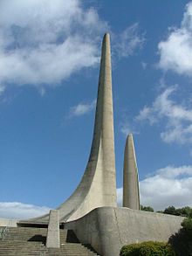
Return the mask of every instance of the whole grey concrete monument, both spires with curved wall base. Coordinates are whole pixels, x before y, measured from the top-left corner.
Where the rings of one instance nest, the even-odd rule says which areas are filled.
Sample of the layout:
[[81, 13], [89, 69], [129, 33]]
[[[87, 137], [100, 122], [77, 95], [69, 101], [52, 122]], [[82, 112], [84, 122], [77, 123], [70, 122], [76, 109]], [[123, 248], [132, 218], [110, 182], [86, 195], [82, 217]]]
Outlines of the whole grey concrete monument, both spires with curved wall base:
[[[72, 230], [82, 244], [93, 246], [101, 256], [119, 255], [120, 248], [127, 244], [168, 241], [181, 227], [183, 218], [139, 211], [132, 135], [128, 136], [125, 149], [123, 205], [126, 207], [117, 207], [116, 202], [111, 53], [106, 33], [102, 43], [92, 148], [81, 182], [72, 196], [50, 214], [11, 223], [24, 228], [47, 229], [46, 246], [53, 249], [60, 246], [61, 229]], [[0, 219], [0, 225], [5, 223], [6, 220]]]

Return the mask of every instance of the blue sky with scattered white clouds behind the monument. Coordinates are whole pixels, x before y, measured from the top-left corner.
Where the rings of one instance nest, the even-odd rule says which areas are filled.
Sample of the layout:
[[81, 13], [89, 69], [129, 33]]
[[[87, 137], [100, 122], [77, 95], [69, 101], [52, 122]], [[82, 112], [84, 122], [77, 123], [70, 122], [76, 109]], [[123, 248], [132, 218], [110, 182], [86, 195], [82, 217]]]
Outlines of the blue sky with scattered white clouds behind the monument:
[[192, 206], [192, 2], [2, 0], [0, 218], [45, 213], [78, 185], [106, 31], [118, 202], [132, 132], [141, 204]]

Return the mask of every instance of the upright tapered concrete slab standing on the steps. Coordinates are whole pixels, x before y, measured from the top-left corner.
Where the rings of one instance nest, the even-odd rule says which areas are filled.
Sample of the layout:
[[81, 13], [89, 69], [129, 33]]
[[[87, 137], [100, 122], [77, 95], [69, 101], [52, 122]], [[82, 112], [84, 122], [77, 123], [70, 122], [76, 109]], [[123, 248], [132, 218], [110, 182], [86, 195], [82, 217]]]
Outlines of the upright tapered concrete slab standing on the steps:
[[51, 210], [46, 237], [47, 248], [60, 248], [59, 211]]

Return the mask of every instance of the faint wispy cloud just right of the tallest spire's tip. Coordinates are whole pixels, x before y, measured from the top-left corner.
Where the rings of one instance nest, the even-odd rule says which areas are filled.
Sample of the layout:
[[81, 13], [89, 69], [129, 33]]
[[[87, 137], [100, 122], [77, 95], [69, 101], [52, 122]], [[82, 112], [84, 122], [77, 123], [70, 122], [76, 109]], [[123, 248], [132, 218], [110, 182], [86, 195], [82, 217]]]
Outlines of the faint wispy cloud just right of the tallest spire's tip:
[[136, 49], [142, 48], [145, 38], [139, 32], [139, 24], [135, 23], [118, 35], [114, 45], [115, 51], [120, 57], [133, 55]]

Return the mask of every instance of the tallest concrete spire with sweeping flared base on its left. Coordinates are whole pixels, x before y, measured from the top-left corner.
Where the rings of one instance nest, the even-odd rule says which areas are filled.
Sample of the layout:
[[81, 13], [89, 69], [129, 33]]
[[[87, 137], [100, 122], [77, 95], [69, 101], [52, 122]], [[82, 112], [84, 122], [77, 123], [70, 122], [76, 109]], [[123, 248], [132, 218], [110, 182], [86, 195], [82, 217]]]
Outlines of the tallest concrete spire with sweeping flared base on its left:
[[[91, 153], [79, 186], [72, 196], [58, 207], [60, 222], [81, 218], [96, 207], [115, 207], [116, 202], [111, 52], [110, 37], [106, 33], [102, 43]], [[48, 216], [33, 220], [46, 222]]]

